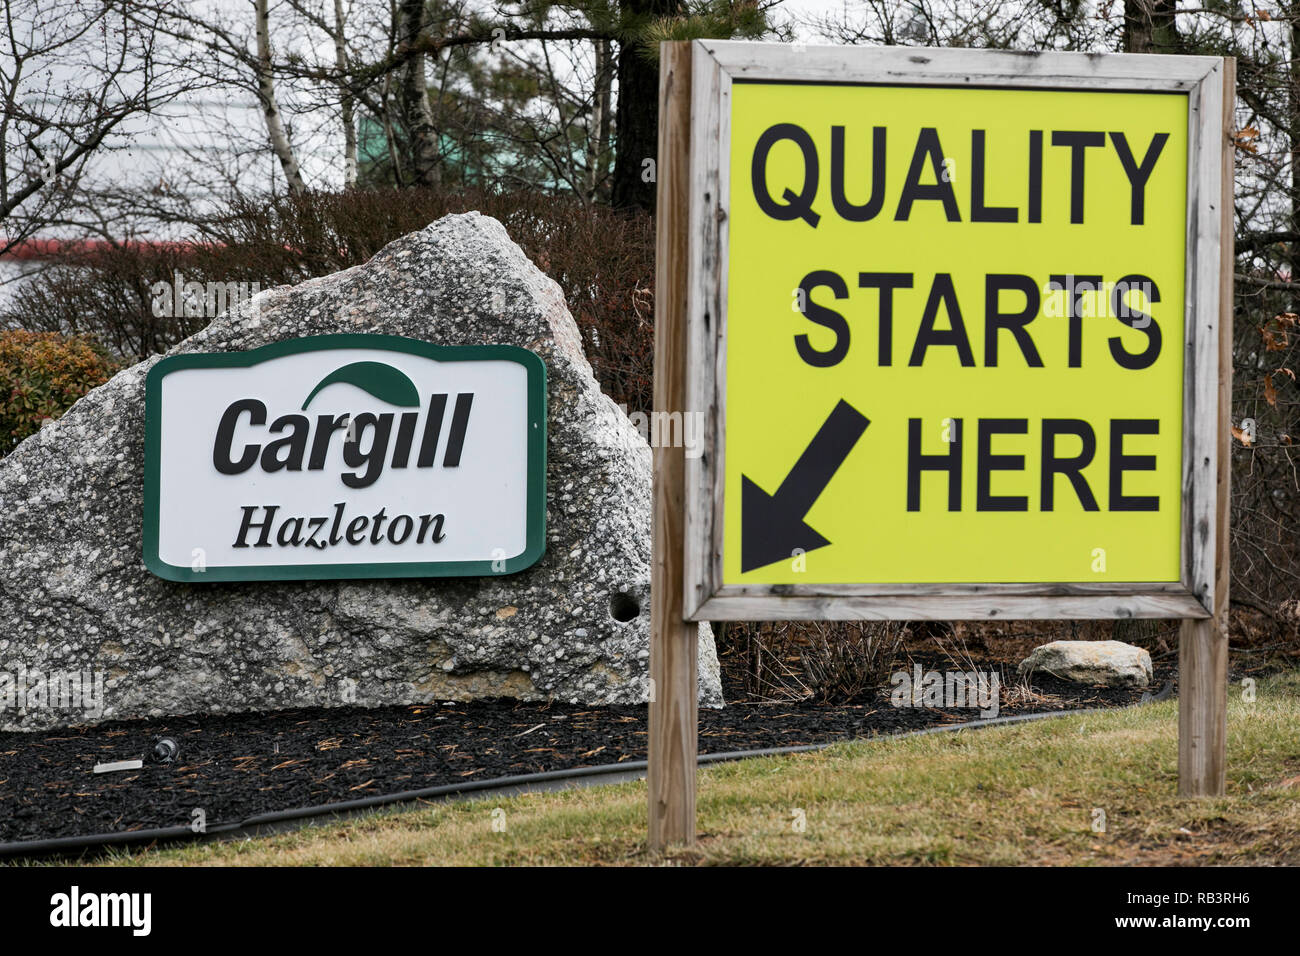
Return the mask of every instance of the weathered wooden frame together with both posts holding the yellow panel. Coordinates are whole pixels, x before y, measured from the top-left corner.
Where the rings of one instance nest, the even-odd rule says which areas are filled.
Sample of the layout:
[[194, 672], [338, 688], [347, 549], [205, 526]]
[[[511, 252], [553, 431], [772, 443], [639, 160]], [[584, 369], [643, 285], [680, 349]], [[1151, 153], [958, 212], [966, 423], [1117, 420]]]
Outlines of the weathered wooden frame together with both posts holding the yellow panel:
[[[1180, 618], [1178, 779], [1221, 795], [1227, 734], [1235, 61], [900, 47], [660, 44], [656, 412], [705, 412], [705, 454], [654, 449], [649, 847], [696, 839], [696, 620]], [[727, 250], [736, 82], [1164, 91], [1188, 98], [1180, 580], [724, 585]]]

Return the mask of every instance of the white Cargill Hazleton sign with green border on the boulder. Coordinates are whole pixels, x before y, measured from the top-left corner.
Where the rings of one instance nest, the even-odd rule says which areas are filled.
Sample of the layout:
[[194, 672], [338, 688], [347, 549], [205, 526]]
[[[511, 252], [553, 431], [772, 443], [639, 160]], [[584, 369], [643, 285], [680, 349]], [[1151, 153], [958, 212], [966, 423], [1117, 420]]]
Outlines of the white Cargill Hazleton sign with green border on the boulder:
[[318, 336], [146, 386], [144, 563], [169, 580], [489, 575], [545, 549], [546, 367]]

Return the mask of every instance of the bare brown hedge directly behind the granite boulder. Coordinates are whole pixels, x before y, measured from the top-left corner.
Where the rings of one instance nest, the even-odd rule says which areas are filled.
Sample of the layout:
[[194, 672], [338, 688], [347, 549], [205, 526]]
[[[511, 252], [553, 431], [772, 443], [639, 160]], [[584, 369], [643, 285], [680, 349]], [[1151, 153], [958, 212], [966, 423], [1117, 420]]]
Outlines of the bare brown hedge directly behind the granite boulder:
[[151, 287], [176, 272], [196, 282], [294, 285], [359, 265], [407, 233], [473, 209], [499, 220], [559, 284], [606, 393], [649, 411], [653, 219], [536, 193], [373, 189], [242, 199], [202, 224], [190, 243], [69, 250], [20, 287], [0, 326], [88, 333], [122, 358], [143, 359], [211, 319], [153, 315]]

